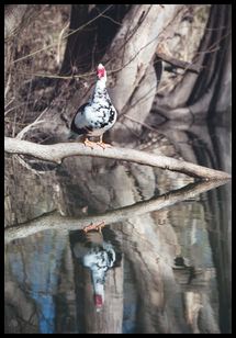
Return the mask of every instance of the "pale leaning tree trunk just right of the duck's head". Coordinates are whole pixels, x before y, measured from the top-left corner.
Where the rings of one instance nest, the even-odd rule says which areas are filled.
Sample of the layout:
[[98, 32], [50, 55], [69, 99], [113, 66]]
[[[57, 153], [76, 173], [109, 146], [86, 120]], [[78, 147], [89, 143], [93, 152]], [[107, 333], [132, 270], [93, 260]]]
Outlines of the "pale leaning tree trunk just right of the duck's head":
[[145, 76], [155, 56], [160, 33], [181, 9], [178, 4], [168, 4], [165, 8], [142, 4], [133, 5], [126, 14], [104, 57], [110, 69], [115, 71], [114, 86], [110, 92], [120, 113]]

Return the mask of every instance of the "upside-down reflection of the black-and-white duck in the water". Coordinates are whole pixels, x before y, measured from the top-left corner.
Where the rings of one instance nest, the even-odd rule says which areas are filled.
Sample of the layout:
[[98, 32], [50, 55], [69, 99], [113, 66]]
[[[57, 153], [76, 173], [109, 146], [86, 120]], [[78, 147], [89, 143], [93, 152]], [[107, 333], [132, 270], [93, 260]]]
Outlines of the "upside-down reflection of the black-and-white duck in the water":
[[[110, 229], [103, 224], [87, 227], [78, 232], [77, 240], [72, 245], [72, 251], [77, 260], [91, 272], [93, 298], [97, 312], [104, 305], [105, 277], [109, 269], [121, 266], [122, 255], [111, 241]], [[117, 244], [116, 244], [117, 245]]]

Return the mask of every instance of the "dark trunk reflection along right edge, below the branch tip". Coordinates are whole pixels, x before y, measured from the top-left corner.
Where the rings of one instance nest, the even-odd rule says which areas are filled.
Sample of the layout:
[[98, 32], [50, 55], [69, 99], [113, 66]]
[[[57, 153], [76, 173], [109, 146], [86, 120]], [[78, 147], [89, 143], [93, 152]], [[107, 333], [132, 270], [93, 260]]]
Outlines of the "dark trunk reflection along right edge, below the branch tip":
[[209, 219], [209, 238], [216, 268], [220, 303], [220, 327], [222, 334], [232, 331], [232, 230], [231, 230], [231, 187], [224, 185], [207, 192], [206, 213]]

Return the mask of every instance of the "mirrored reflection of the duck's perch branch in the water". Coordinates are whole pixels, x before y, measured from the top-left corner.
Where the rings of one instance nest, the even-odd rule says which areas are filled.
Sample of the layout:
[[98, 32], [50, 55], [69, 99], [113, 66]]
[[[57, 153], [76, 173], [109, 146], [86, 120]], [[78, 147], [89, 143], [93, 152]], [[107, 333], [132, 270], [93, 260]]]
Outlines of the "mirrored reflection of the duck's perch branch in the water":
[[124, 206], [117, 210], [106, 212], [104, 214], [98, 214], [93, 216], [85, 216], [81, 218], [74, 218], [61, 216], [57, 212], [49, 213], [47, 215], [42, 215], [36, 219], [30, 221], [27, 223], [7, 227], [4, 230], [4, 243], [8, 244], [11, 240], [27, 237], [38, 232], [46, 229], [55, 230], [79, 230], [91, 223], [113, 224], [116, 222], [122, 222], [127, 218], [143, 215], [145, 213], [150, 213], [154, 211], [168, 207], [178, 202], [193, 199], [198, 194], [203, 193], [213, 188], [220, 187], [226, 183], [227, 180], [218, 181], [207, 181], [191, 183], [178, 190], [170, 191], [166, 194], [158, 196], [157, 199], [151, 199], [145, 202], [138, 202], [134, 205]]

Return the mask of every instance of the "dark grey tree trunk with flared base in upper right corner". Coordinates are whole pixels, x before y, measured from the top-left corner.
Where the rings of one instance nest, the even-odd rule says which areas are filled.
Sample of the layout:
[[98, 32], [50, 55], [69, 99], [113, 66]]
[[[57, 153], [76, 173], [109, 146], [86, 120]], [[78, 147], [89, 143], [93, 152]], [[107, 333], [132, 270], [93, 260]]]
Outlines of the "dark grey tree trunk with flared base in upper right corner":
[[[217, 120], [231, 104], [231, 15], [229, 4], [213, 4], [205, 33], [193, 63], [200, 75], [186, 72], [167, 95], [156, 97], [153, 110], [168, 120]], [[216, 113], [217, 112], [217, 113]]]

